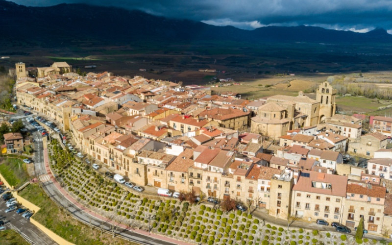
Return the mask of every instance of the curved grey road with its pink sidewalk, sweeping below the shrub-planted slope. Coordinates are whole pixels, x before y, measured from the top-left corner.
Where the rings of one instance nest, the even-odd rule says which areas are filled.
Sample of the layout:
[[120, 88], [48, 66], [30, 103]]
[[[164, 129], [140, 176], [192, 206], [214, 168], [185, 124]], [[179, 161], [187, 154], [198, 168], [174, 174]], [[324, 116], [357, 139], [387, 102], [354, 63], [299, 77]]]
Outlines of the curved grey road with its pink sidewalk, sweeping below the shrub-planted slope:
[[[16, 115], [15, 118], [24, 118], [24, 116]], [[25, 120], [25, 127], [32, 132], [34, 137], [34, 166], [35, 171], [38, 176], [41, 176], [42, 187], [44, 191], [48, 194], [48, 196], [54, 200], [58, 205], [64, 207], [73, 217], [79, 221], [82, 221], [86, 224], [92, 224], [99, 229], [103, 229], [106, 231], [113, 230], [113, 223], [117, 225], [117, 222], [109, 221], [107, 218], [102, 217], [98, 214], [94, 214], [87, 208], [84, 208], [80, 203], [77, 203], [71, 196], [68, 195], [61, 188], [58, 182], [52, 176], [49, 169], [48, 162], [48, 149], [44, 147], [44, 142], [42, 135], [36, 131], [36, 129]], [[46, 140], [44, 140], [46, 142]], [[43, 178], [42, 176], [48, 176]], [[126, 240], [146, 245], [178, 245], [178, 244], [186, 244], [180, 241], [176, 241], [164, 236], [159, 236], [155, 234], [149, 234], [144, 230], [131, 230], [129, 227], [125, 225], [119, 225], [119, 228], [115, 231], [117, 236], [121, 236]]]

